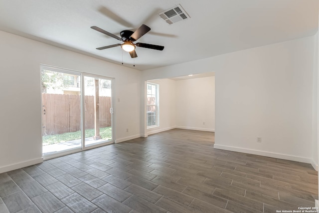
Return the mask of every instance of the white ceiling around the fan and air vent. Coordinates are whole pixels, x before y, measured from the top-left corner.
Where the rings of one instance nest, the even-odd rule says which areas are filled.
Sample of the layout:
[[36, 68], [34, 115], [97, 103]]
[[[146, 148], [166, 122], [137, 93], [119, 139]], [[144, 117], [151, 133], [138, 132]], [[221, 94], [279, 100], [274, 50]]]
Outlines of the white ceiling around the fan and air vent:
[[[167, 24], [158, 13], [180, 3], [190, 19]], [[138, 57], [90, 27], [120, 36], [141, 24], [151, 27], [138, 42]], [[318, 0], [0, 0], [0, 30], [146, 70], [314, 35]], [[121, 42], [120, 42], [121, 43]], [[135, 63], [135, 67], [133, 67]]]

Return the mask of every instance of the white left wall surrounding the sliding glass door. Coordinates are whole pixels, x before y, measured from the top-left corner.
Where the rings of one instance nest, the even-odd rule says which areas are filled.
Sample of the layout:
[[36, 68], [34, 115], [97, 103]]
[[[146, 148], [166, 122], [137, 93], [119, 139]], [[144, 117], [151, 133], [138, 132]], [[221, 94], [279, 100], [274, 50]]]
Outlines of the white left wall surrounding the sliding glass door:
[[115, 78], [116, 140], [140, 137], [140, 71], [3, 31], [0, 46], [0, 173], [42, 161], [40, 64]]

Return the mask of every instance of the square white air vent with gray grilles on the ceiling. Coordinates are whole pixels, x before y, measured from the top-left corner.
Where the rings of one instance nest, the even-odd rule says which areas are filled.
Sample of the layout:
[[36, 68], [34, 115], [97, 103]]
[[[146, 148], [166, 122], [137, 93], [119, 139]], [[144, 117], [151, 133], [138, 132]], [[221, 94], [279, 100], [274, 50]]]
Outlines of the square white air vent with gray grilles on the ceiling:
[[173, 24], [177, 21], [190, 18], [180, 4], [162, 11], [159, 15], [168, 24]]

